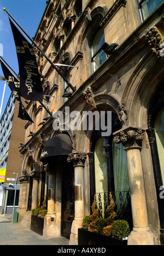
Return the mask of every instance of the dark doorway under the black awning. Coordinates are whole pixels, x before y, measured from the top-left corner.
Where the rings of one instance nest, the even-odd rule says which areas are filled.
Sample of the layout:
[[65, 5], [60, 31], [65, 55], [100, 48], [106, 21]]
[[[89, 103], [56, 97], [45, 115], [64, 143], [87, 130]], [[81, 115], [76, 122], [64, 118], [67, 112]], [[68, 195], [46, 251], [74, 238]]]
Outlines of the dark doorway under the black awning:
[[62, 218], [61, 235], [70, 238], [74, 220], [74, 167], [62, 157]]

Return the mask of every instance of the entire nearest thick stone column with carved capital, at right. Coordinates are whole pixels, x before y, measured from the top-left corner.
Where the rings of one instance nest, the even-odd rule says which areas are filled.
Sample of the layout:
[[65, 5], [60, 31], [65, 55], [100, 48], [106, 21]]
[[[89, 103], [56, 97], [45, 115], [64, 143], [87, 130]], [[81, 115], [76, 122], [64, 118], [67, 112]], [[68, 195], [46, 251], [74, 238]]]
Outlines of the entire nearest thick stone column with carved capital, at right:
[[115, 143], [122, 143], [127, 152], [128, 174], [131, 191], [133, 231], [128, 237], [128, 245], [155, 245], [155, 237], [148, 223], [147, 203], [145, 199], [144, 177], [140, 150], [144, 130], [138, 127], [125, 127], [114, 133]]

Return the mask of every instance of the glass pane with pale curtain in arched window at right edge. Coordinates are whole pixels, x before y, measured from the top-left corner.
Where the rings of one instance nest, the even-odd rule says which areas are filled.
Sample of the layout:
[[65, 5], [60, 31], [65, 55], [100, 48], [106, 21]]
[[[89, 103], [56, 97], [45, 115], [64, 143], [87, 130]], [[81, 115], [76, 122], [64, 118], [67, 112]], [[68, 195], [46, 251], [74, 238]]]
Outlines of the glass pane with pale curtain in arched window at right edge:
[[156, 130], [155, 134], [156, 134], [157, 149], [159, 152], [162, 180], [164, 184], [164, 108], [157, 115], [157, 118], [155, 121], [155, 130]]

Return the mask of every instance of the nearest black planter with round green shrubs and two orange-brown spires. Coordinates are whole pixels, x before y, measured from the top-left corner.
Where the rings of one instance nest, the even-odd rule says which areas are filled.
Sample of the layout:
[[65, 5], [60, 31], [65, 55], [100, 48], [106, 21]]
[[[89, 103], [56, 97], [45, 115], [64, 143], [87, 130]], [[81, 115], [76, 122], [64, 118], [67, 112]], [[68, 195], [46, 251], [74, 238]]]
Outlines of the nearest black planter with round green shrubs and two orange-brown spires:
[[108, 218], [98, 218], [95, 196], [92, 215], [83, 218], [82, 229], [78, 230], [79, 245], [127, 245], [126, 237], [130, 235], [130, 227], [125, 220], [116, 220], [112, 193], [109, 199]]

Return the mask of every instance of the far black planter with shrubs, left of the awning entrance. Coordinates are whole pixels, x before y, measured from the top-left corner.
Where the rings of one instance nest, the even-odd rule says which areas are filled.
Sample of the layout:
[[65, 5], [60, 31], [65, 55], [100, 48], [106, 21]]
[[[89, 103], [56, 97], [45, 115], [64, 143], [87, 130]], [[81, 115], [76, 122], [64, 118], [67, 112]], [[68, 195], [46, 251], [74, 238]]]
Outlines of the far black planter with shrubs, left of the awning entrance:
[[30, 229], [36, 232], [39, 235], [43, 235], [43, 227], [44, 227], [44, 217], [47, 214], [47, 210], [45, 210], [45, 200], [41, 207], [37, 207], [36, 209], [32, 210], [31, 213], [31, 227]]

